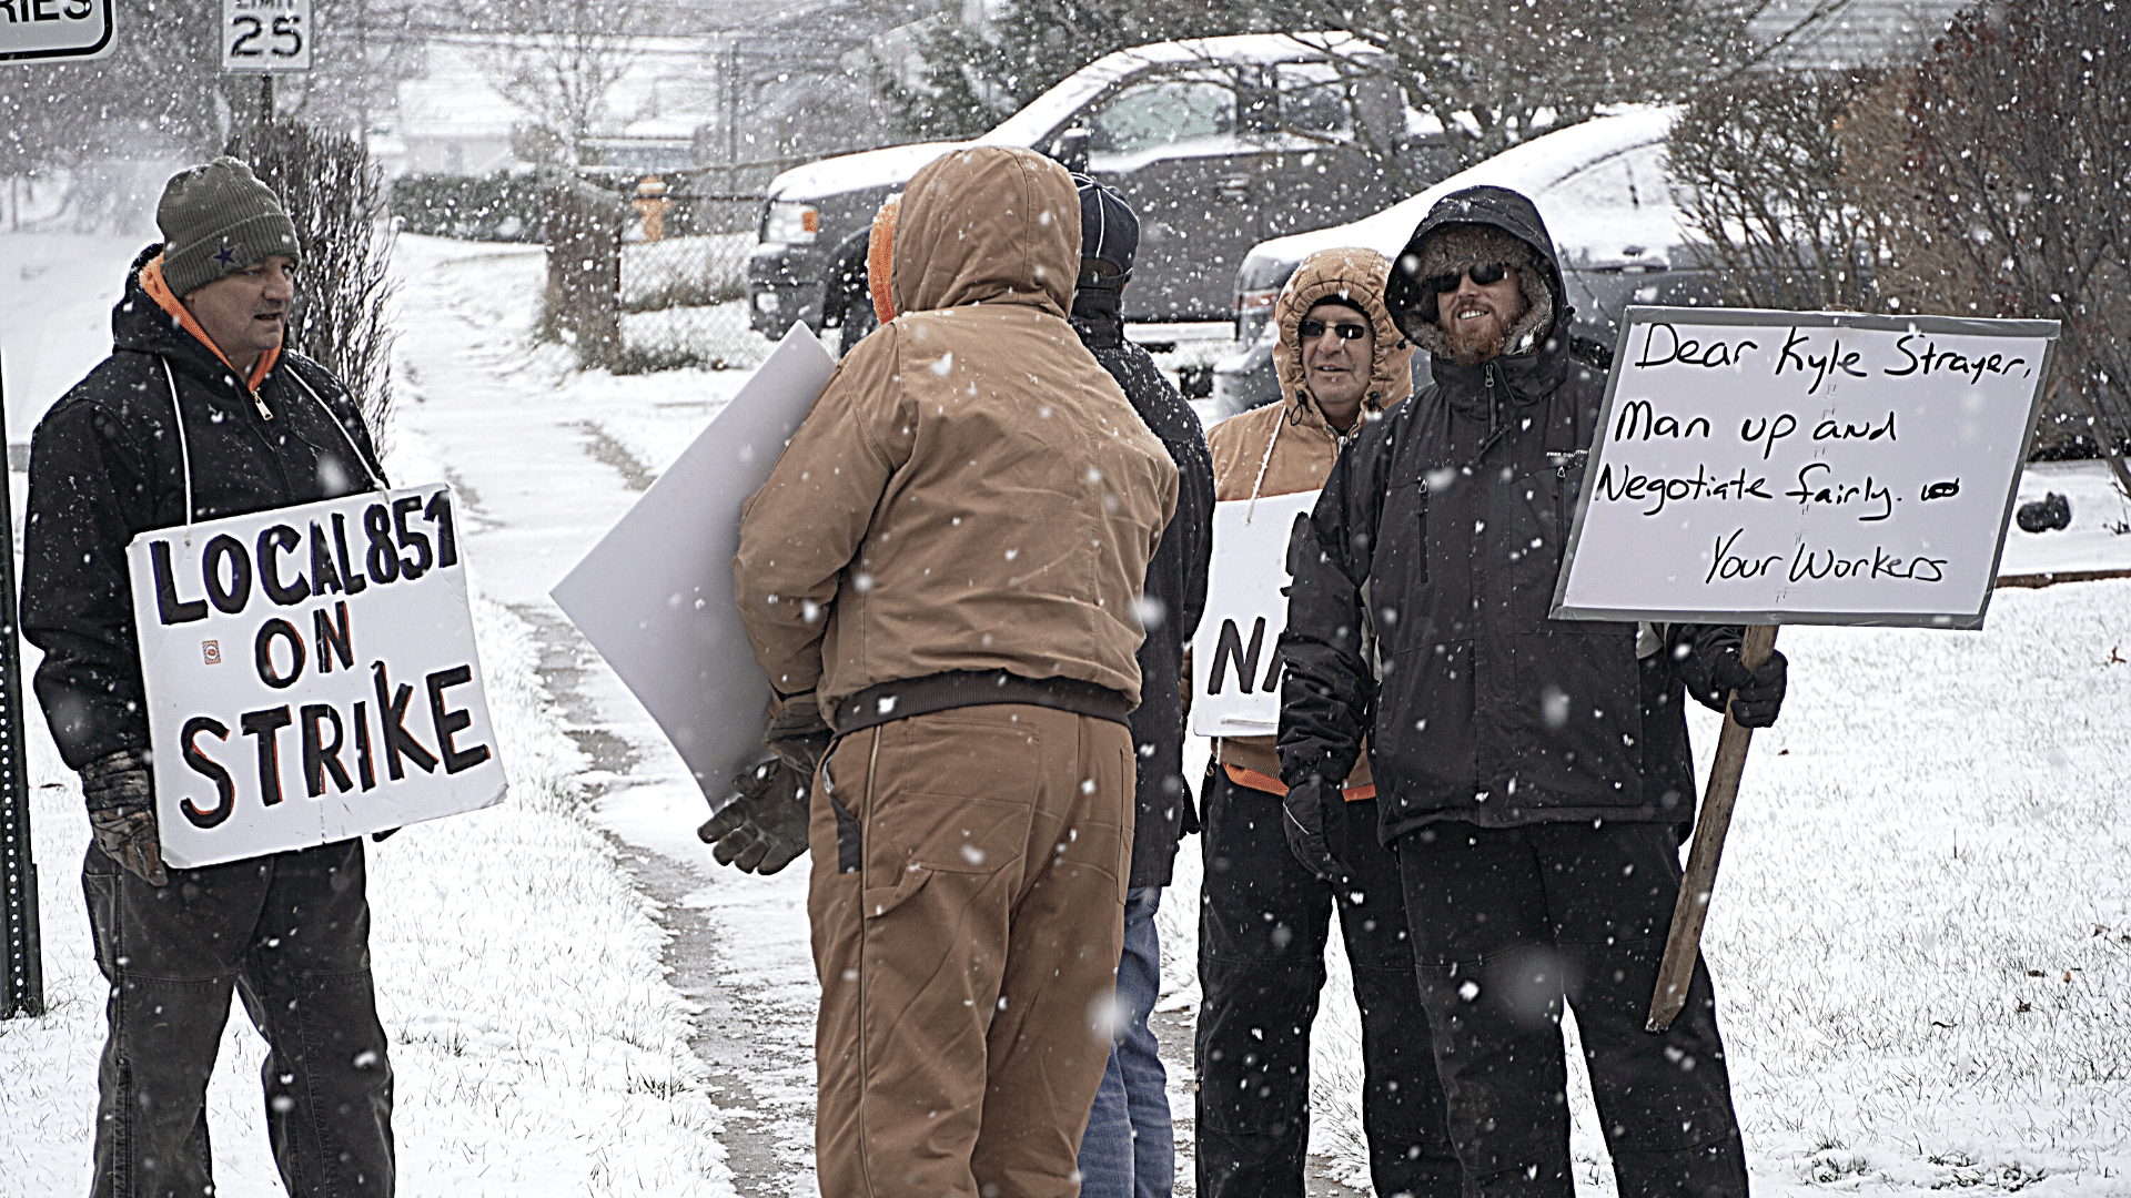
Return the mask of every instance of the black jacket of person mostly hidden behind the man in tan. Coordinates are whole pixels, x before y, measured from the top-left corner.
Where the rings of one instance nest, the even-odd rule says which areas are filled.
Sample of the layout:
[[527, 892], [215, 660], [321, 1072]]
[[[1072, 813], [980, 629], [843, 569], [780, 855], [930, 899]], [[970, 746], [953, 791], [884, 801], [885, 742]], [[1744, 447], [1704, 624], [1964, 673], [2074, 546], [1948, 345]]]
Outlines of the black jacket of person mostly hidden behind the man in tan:
[[1146, 599], [1161, 618], [1146, 620], [1140, 642], [1140, 706], [1132, 710], [1136, 750], [1138, 823], [1132, 827], [1127, 887], [1166, 887], [1174, 872], [1176, 842], [1200, 829], [1185, 784], [1185, 708], [1178, 669], [1191, 633], [1206, 610], [1206, 563], [1213, 556], [1213, 456], [1206, 431], [1155, 360], [1132, 341], [1119, 318], [1117, 292], [1074, 292], [1072, 326], [1102, 369], [1125, 390], [1134, 411], [1161, 439], [1176, 463], [1176, 514], [1161, 531], [1161, 546], [1146, 563]]

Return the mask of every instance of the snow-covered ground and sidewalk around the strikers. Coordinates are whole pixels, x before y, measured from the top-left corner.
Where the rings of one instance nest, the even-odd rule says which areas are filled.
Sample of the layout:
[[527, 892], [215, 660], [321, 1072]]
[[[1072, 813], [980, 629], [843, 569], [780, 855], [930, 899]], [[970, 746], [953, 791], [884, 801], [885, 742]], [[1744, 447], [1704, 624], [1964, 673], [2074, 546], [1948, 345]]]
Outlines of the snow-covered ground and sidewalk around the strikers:
[[[0, 237], [11, 443], [107, 350], [134, 249]], [[569, 695], [541, 674], [571, 642], [546, 588], [744, 375], [575, 375], [528, 347], [539, 249], [405, 239], [398, 266], [388, 465], [460, 488], [514, 778], [505, 806], [373, 851], [401, 1189], [725, 1194], [729, 1160], [754, 1151], [774, 1168], [742, 1192], [810, 1198], [803, 865], [712, 865], [693, 833], [701, 795], [612, 674], [586, 669]], [[2095, 467], [2031, 471], [2022, 499], [2050, 488], [2073, 495], [2073, 529], [2012, 533], [2007, 573], [2131, 567]], [[1756, 1187], [2131, 1194], [2131, 580], [2001, 590], [1984, 633], [1786, 629], [1782, 648], [1792, 697], [1754, 742], [1707, 934]], [[85, 1185], [102, 1036], [75, 889], [85, 821], [32, 725], [51, 1015], [0, 1023], [0, 1198]], [[1694, 733], [1713, 744], [1713, 721]], [[690, 1027], [688, 968], [661, 932], [676, 910], [633, 889], [652, 859], [682, 878], [669, 906], [714, 940], [695, 966], [731, 998], [731, 1027]], [[1195, 1002], [1198, 874], [1187, 842], [1161, 917], [1176, 1013]], [[1343, 987], [1334, 951], [1313, 1145], [1360, 1185]], [[746, 1096], [690, 1040], [735, 1053]], [[230, 1194], [279, 1192], [260, 1055], [232, 1021], [211, 1091]], [[1575, 1085], [1579, 1192], [1609, 1194]], [[1187, 1059], [1172, 1104], [1189, 1117]], [[1187, 1153], [1187, 1126], [1178, 1138]], [[1187, 1187], [1187, 1157], [1178, 1172]]]

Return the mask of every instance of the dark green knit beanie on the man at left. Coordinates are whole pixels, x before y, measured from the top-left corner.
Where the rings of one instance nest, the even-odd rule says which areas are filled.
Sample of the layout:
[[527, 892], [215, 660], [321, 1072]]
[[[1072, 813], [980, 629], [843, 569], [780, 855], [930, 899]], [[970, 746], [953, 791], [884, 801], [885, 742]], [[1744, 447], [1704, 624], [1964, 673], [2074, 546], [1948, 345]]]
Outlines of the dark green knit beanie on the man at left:
[[251, 168], [234, 158], [188, 166], [162, 188], [162, 281], [183, 298], [269, 254], [298, 258], [296, 224]]

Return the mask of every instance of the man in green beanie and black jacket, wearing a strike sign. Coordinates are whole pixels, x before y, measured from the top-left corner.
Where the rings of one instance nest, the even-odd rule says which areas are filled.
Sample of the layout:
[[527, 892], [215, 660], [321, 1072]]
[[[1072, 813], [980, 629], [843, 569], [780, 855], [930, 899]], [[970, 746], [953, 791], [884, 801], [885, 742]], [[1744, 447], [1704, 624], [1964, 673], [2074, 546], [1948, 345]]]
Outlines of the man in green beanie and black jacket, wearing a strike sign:
[[230, 991], [271, 1047], [260, 1079], [296, 1198], [390, 1196], [392, 1070], [369, 972], [362, 842], [166, 868], [126, 546], [149, 529], [384, 488], [362, 414], [283, 347], [296, 228], [234, 158], [181, 171], [111, 313], [113, 352], [30, 450], [23, 635], [81, 772], [81, 887], [111, 981], [98, 1198], [213, 1194], [207, 1076]]

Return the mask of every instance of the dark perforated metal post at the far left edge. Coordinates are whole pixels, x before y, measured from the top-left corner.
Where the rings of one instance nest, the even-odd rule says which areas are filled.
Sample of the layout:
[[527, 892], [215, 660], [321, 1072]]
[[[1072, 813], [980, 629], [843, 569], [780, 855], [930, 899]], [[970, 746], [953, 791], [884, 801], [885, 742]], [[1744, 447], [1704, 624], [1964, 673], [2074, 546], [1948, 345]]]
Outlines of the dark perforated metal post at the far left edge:
[[[0, 411], [6, 386], [0, 384]], [[0, 437], [4, 439], [4, 437]], [[6, 972], [0, 972], [0, 1019], [45, 1013], [45, 959], [36, 938], [36, 859], [30, 853], [30, 772], [23, 763], [21, 642], [15, 627], [15, 501], [13, 484], [0, 486], [0, 932], [6, 934]]]

